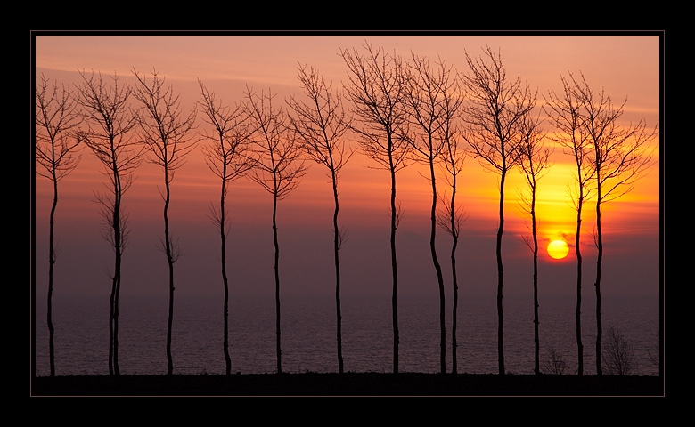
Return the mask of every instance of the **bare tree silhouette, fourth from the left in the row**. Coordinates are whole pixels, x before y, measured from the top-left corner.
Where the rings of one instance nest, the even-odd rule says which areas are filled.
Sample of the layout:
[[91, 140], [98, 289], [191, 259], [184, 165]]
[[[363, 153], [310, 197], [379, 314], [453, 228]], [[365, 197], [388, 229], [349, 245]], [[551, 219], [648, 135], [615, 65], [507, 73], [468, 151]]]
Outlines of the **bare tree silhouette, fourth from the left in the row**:
[[245, 176], [256, 165], [254, 157], [250, 156], [250, 130], [245, 106], [242, 103], [230, 108], [217, 101], [215, 93], [210, 93], [200, 82], [202, 100], [200, 107], [205, 115], [204, 120], [212, 126], [210, 133], [203, 137], [210, 144], [203, 148], [206, 156], [206, 164], [210, 171], [222, 180], [220, 191], [219, 210], [210, 203], [210, 217], [219, 227], [221, 241], [222, 282], [225, 287], [224, 302], [224, 339], [225, 374], [232, 371], [232, 360], [229, 357], [229, 281], [226, 267], [226, 239], [228, 230], [228, 218], [225, 210], [225, 199], [230, 182]]

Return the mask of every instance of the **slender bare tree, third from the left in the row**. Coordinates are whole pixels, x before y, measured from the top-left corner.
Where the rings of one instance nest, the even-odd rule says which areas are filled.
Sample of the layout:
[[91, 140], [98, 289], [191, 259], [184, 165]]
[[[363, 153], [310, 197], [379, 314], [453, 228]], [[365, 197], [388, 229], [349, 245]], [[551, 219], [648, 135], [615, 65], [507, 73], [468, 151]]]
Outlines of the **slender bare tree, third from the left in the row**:
[[177, 243], [169, 230], [168, 209], [171, 202], [171, 181], [176, 169], [185, 162], [185, 157], [196, 147], [189, 136], [195, 123], [195, 110], [183, 116], [179, 106], [178, 95], [173, 86], [165, 87], [165, 79], [159, 78], [152, 70], [151, 84], [147, 78], [140, 76], [134, 69], [137, 80], [133, 91], [135, 99], [140, 101], [142, 111], [138, 114], [140, 138], [150, 150], [149, 161], [164, 170], [164, 254], [167, 255], [169, 275], [169, 315], [167, 326], [167, 374], [172, 375], [174, 364], [171, 357], [171, 330], [174, 319], [174, 263], [180, 255]]

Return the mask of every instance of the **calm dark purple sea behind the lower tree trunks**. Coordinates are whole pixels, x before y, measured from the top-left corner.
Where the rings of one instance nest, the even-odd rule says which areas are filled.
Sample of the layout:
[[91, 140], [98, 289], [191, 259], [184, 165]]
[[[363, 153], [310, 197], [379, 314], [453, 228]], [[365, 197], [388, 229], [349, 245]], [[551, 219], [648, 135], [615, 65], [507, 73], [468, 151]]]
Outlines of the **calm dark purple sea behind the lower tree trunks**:
[[[36, 374], [49, 374], [45, 296], [37, 296]], [[588, 301], [587, 301], [588, 300]], [[595, 375], [596, 326], [592, 298], [583, 307], [585, 375]], [[175, 374], [223, 374], [222, 300], [176, 296], [172, 353]], [[337, 372], [333, 297], [285, 296], [281, 301], [282, 371]], [[458, 372], [497, 373], [495, 296], [460, 296]], [[541, 369], [552, 347], [576, 373], [575, 300], [540, 301]], [[451, 299], [446, 302], [450, 310]], [[393, 334], [390, 296], [343, 297], [343, 359], [346, 371], [392, 372]], [[658, 375], [658, 298], [605, 296], [602, 301], [604, 346], [615, 326], [634, 351], [635, 374]], [[119, 367], [123, 375], [167, 372], [168, 300], [121, 297]], [[56, 375], [108, 375], [108, 297], [54, 297]], [[401, 372], [439, 372], [438, 300], [405, 298], [398, 302]], [[530, 297], [504, 299], [505, 367], [532, 374], [534, 315]], [[451, 371], [451, 314], [446, 314], [446, 370]], [[232, 370], [241, 374], [276, 372], [274, 297], [231, 300], [229, 350]]]

